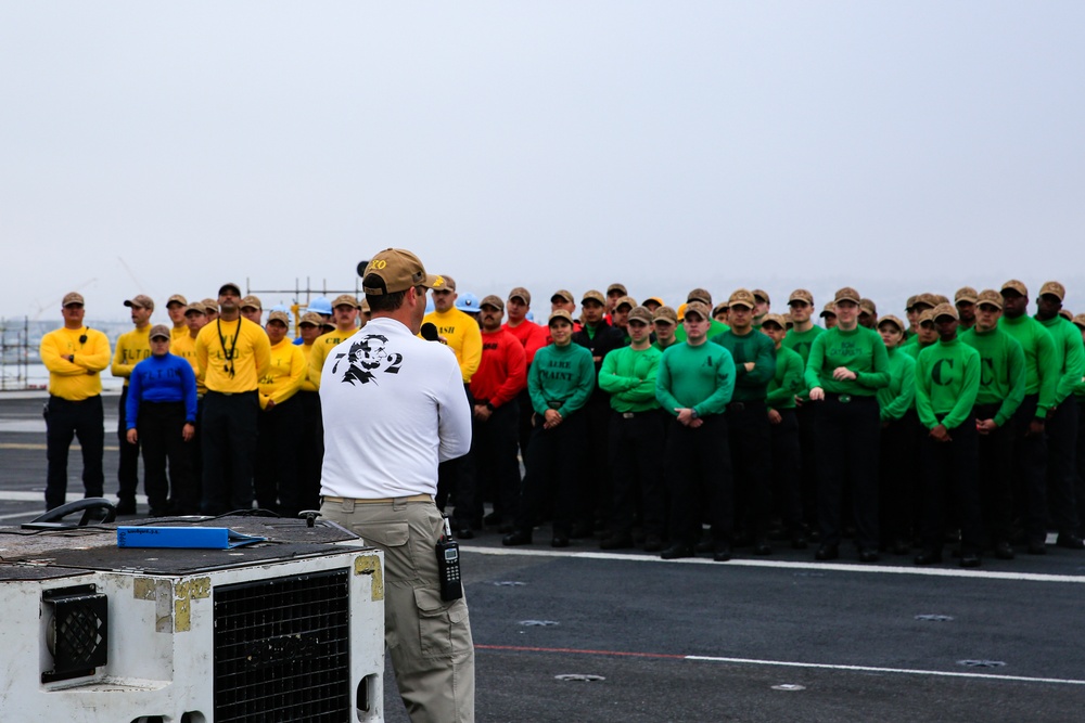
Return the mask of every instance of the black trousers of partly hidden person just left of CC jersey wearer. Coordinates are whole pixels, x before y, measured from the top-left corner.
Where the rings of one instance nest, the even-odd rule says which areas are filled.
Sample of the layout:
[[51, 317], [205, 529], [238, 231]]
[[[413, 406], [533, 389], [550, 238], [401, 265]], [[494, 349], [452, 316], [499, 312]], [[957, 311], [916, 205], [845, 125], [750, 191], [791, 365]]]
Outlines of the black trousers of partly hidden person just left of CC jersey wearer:
[[910, 543], [917, 520], [922, 482], [916, 479], [922, 426], [914, 410], [882, 426], [878, 449], [878, 528], [883, 546]]

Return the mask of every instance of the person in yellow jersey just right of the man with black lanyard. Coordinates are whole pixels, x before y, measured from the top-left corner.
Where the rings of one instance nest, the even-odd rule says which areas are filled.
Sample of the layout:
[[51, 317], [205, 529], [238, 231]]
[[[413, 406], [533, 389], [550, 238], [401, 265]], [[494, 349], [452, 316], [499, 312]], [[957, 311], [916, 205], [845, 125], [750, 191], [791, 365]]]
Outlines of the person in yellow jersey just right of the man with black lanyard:
[[260, 375], [259, 440], [256, 444], [254, 486], [256, 504], [286, 517], [301, 509], [295, 432], [301, 423], [301, 405], [295, 397], [308, 366], [305, 353], [288, 338], [290, 314], [268, 314], [271, 365]]

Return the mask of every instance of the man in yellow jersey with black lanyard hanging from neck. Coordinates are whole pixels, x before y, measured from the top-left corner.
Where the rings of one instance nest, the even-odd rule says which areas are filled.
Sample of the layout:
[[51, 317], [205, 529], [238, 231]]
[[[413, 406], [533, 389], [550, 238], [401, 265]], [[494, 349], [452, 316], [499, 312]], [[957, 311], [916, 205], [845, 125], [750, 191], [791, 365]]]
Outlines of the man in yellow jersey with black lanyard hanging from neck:
[[203, 501], [205, 515], [253, 506], [253, 460], [260, 402], [258, 382], [271, 364], [271, 344], [263, 328], [241, 317], [241, 288], [218, 289], [219, 318], [196, 336], [199, 376], [204, 395]]

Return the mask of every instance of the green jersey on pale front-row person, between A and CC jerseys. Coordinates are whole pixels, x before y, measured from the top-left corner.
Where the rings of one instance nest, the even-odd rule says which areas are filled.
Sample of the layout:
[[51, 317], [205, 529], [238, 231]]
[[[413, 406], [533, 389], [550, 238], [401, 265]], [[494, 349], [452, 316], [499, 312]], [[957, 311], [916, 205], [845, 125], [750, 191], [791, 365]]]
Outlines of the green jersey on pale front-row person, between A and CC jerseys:
[[[833, 371], [845, 367], [854, 379], [834, 379]], [[889, 354], [878, 332], [856, 326], [845, 332], [834, 326], [818, 335], [806, 360], [806, 387], [830, 393], [873, 397], [889, 385]]]

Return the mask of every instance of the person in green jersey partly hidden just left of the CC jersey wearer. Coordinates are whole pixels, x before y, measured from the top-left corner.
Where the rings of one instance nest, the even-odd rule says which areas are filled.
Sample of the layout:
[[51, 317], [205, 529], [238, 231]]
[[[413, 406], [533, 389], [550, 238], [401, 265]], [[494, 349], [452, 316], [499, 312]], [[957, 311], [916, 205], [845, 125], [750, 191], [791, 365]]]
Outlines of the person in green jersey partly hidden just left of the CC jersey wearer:
[[904, 322], [893, 315], [878, 320], [878, 334], [889, 354], [889, 386], [878, 390], [881, 439], [878, 449], [878, 529], [881, 547], [907, 555], [914, 532], [914, 470], [906, 461], [919, 451], [916, 416], [916, 360], [901, 350]]

